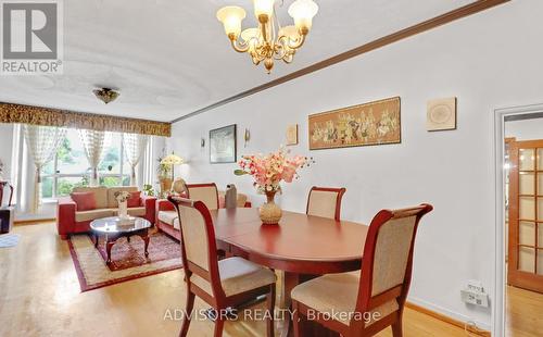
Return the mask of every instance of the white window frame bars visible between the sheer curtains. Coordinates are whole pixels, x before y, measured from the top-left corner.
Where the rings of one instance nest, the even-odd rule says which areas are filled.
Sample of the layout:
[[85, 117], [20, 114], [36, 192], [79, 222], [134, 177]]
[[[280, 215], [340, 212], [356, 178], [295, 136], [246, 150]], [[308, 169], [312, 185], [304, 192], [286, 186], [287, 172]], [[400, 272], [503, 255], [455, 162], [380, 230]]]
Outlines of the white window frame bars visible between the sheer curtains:
[[[116, 133], [121, 135], [119, 139], [119, 147], [121, 147], [121, 154], [119, 154], [119, 172], [118, 173], [98, 173], [98, 178], [100, 179], [101, 177], [116, 177], [119, 179], [119, 185], [116, 186], [124, 186], [123, 182], [125, 178], [130, 178], [130, 172], [125, 173], [124, 172], [124, 155], [125, 155], [125, 142], [124, 142], [124, 133]], [[41, 194], [43, 190], [40, 188], [40, 198], [41, 200], [55, 200], [59, 198], [63, 198], [66, 196], [59, 196], [58, 195], [58, 188], [59, 188], [59, 179], [62, 178], [84, 178], [88, 177], [90, 179], [90, 175], [92, 174], [91, 172], [89, 173], [60, 173], [59, 171], [59, 151], [54, 153], [54, 159], [53, 159], [53, 172], [52, 174], [41, 174], [41, 179], [45, 178], [52, 178], [52, 190], [51, 190], [51, 197], [43, 197]]]

